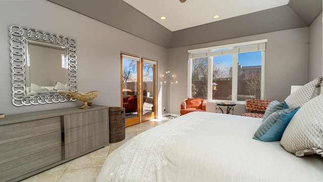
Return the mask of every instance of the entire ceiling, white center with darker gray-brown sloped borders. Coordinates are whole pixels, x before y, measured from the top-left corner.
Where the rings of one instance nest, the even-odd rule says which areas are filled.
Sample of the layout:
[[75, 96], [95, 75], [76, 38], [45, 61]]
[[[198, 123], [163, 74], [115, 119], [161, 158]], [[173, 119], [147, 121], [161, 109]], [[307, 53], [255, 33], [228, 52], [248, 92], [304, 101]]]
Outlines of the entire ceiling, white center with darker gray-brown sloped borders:
[[322, 12], [322, 0], [47, 1], [165, 48], [307, 27]]

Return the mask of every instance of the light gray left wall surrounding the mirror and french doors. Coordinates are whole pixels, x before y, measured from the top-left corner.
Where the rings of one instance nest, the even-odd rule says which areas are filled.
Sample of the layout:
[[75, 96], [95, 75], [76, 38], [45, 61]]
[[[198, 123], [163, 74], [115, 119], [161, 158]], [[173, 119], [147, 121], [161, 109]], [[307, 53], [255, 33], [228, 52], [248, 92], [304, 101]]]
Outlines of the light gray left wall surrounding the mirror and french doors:
[[[8, 27], [15, 24], [76, 39], [78, 91], [99, 90], [93, 104], [120, 106], [120, 52], [157, 60], [158, 71], [166, 70], [168, 50], [147, 40], [48, 1], [0, 1], [0, 113], [6, 115], [82, 105], [80, 101], [22, 107], [12, 104]], [[167, 97], [167, 92], [163, 93], [161, 107], [165, 107]]]

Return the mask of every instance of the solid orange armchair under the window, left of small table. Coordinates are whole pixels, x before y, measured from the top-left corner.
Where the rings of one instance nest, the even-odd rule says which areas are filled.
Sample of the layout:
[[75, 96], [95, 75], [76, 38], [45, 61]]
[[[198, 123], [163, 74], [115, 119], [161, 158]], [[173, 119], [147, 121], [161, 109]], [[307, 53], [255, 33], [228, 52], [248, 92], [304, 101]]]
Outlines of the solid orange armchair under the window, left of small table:
[[193, 111], [206, 111], [207, 101], [201, 98], [187, 98], [181, 103], [181, 115]]

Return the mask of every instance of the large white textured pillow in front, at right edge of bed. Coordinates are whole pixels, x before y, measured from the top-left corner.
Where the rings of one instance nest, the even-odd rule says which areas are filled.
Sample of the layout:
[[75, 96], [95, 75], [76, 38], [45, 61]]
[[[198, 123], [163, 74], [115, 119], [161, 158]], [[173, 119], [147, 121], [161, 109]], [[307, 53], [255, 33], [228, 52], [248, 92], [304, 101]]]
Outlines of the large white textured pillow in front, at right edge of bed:
[[283, 133], [281, 144], [296, 156], [323, 157], [323, 95], [311, 99], [297, 111]]

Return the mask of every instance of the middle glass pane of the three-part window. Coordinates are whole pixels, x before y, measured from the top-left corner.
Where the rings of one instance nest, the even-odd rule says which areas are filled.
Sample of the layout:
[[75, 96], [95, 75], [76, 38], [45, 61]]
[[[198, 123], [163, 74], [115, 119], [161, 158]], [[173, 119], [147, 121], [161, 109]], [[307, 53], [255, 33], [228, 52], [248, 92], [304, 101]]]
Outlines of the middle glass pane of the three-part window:
[[232, 55], [212, 60], [212, 100], [232, 100]]

